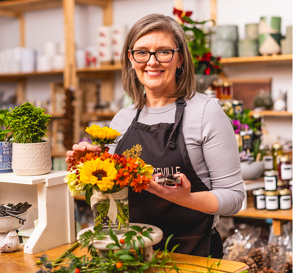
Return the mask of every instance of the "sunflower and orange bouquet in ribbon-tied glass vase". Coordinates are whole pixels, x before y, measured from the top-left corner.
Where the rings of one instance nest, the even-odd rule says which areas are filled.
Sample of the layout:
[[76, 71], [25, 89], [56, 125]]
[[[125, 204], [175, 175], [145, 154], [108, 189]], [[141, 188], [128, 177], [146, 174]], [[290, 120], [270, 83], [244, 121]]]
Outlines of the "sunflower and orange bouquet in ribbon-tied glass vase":
[[148, 188], [153, 166], [140, 158], [105, 151], [105, 145], [114, 143], [121, 134], [117, 130], [94, 124], [85, 131], [93, 145], [101, 146], [101, 155], [88, 153], [78, 161], [73, 159], [64, 181], [71, 196], [85, 192], [86, 202], [93, 209], [95, 225], [102, 225], [106, 231], [109, 226], [117, 230], [127, 229], [128, 188], [139, 193]]

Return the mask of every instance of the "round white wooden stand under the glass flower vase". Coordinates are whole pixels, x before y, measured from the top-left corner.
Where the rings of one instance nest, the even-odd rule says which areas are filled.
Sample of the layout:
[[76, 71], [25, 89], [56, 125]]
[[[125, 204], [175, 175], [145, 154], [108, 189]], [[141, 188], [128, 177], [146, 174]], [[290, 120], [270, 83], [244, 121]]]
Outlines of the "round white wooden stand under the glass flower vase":
[[[130, 223], [131, 225], [138, 225], [142, 228], [142, 226], [146, 226], [146, 228], [152, 228], [153, 231], [151, 232], [151, 236], [153, 241], [151, 241], [149, 238], [143, 237], [143, 241], [144, 241], [144, 253], [143, 253], [143, 257], [145, 261], [151, 261], [152, 257], [154, 255], [154, 251], [153, 251], [153, 245], [158, 244], [162, 239], [163, 239], [163, 232], [157, 228], [157, 226], [154, 225], [150, 225], [150, 224], [140, 224], [140, 223]], [[77, 240], [79, 240], [80, 235], [82, 235], [84, 232], [91, 230], [93, 231], [93, 226], [91, 226], [90, 228], [84, 229], [82, 231], [80, 231], [77, 235]], [[132, 231], [131, 229], [129, 229], [128, 231]], [[123, 238], [124, 234], [117, 234], [117, 238], [118, 241]], [[137, 240], [136, 240], [137, 241]], [[138, 242], [138, 241], [137, 241]], [[104, 254], [109, 252], [109, 249], [106, 247], [107, 245], [113, 243], [112, 239], [110, 238], [110, 236], [106, 236], [105, 239], [103, 240], [94, 240], [93, 241], [93, 247], [95, 249], [99, 249], [99, 256], [100, 257], [104, 257]], [[142, 247], [139, 242], [138, 242], [139, 247]], [[125, 248], [125, 245], [123, 246], [123, 248]], [[131, 248], [133, 248], [133, 246], [131, 245]], [[118, 249], [118, 247], [117, 247]]]

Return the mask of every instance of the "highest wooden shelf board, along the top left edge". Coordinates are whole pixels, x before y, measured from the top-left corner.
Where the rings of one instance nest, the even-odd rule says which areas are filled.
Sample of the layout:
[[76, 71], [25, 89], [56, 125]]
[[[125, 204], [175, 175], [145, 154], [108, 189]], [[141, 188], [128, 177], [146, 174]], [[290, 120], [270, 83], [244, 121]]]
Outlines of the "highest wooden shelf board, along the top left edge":
[[[76, 4], [106, 7], [108, 0], [75, 0]], [[19, 13], [62, 7], [62, 0], [13, 0], [0, 2], [0, 15], [18, 16]]]

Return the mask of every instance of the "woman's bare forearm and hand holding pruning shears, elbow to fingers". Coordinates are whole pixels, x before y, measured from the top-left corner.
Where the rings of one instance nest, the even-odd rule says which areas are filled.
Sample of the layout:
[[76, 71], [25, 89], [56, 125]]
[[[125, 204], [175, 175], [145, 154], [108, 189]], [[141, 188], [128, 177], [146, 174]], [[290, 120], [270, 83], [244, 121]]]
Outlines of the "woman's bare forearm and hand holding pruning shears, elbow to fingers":
[[214, 213], [218, 210], [219, 203], [213, 193], [209, 191], [190, 192], [191, 184], [185, 174], [176, 173], [174, 175], [182, 179], [182, 184], [173, 187], [161, 185], [154, 181], [156, 176], [161, 175], [162, 173], [155, 174], [153, 179], [150, 179], [148, 189], [145, 191], [155, 194], [177, 205], [199, 210], [204, 213]]

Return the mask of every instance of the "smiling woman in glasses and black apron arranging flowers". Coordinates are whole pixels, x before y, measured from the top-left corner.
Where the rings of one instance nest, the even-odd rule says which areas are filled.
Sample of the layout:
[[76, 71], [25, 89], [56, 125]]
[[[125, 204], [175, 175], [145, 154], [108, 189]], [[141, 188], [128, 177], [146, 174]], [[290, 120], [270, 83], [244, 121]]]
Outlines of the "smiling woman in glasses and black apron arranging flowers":
[[[121, 132], [110, 153], [140, 157], [154, 166], [154, 177], [174, 174], [182, 186], [150, 180], [142, 193], [129, 193], [130, 222], [163, 230], [175, 252], [222, 258], [215, 226], [219, 215], [237, 213], [244, 199], [237, 143], [231, 120], [219, 101], [195, 93], [192, 58], [180, 25], [152, 14], [129, 31], [121, 56], [125, 92], [135, 104], [122, 109], [111, 127]], [[143, 89], [145, 94], [143, 95]], [[73, 146], [66, 159], [101, 148]]]

